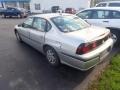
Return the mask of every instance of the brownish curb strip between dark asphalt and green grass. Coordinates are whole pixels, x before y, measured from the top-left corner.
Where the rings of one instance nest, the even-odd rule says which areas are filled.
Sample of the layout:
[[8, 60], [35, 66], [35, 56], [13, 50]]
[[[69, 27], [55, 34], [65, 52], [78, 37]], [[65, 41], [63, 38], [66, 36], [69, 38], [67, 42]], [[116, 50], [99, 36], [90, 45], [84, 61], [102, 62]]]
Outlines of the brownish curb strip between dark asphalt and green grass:
[[93, 81], [97, 80], [101, 72], [110, 63], [111, 58], [115, 56], [119, 51], [119, 48], [113, 49], [112, 53], [107, 58], [105, 58], [104, 62], [98, 64], [93, 70], [91, 70], [91, 73], [83, 80], [83, 82], [76, 86], [73, 90], [87, 90], [88, 86]]

